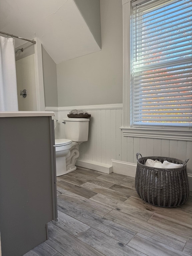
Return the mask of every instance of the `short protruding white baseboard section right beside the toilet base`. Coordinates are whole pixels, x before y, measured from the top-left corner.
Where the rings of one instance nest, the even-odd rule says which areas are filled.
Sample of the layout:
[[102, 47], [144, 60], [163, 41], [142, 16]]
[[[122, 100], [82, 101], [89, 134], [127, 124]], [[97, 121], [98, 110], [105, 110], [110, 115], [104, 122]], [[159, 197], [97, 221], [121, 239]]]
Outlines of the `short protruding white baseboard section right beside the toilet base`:
[[108, 174], [113, 172], [112, 165], [89, 161], [89, 160], [86, 160], [86, 161], [77, 160], [75, 165], [92, 169], [98, 172], [108, 173]]

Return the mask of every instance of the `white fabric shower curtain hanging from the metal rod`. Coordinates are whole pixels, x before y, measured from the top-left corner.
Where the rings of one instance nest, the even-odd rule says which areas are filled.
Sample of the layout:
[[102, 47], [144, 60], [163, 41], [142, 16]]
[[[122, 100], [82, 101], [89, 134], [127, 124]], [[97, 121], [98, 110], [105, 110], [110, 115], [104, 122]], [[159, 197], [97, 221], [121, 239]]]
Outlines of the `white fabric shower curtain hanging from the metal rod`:
[[18, 111], [15, 40], [0, 36], [0, 111]]

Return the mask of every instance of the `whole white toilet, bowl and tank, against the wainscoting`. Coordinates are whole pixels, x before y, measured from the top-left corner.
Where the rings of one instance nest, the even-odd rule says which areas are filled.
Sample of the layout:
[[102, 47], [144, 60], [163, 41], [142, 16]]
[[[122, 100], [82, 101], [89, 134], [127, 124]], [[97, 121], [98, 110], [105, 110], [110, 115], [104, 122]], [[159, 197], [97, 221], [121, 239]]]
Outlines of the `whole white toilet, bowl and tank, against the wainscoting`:
[[88, 118], [63, 118], [65, 139], [55, 140], [56, 175], [64, 175], [75, 171], [75, 163], [79, 157], [79, 145], [88, 140]]

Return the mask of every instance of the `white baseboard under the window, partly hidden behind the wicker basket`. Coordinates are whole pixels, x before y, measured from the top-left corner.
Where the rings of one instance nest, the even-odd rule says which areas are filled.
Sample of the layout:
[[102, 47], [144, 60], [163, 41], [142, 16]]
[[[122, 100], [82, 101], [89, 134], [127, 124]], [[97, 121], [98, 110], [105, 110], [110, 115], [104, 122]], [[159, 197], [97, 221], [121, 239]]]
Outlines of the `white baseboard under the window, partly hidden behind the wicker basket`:
[[[117, 161], [112, 159], [112, 165], [113, 165], [113, 172], [135, 178], [136, 168], [137, 168], [136, 164]], [[192, 191], [192, 174], [188, 173], [188, 178], [189, 178], [189, 190]]]

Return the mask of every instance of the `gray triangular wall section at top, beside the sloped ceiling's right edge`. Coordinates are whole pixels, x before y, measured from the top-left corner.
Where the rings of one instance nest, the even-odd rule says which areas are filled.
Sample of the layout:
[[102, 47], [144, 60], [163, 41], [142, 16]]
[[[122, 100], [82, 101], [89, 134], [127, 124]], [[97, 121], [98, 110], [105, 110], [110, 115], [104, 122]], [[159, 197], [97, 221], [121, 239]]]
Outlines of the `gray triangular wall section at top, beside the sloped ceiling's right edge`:
[[101, 48], [100, 0], [74, 0], [74, 2]]

